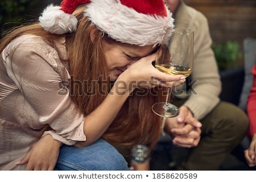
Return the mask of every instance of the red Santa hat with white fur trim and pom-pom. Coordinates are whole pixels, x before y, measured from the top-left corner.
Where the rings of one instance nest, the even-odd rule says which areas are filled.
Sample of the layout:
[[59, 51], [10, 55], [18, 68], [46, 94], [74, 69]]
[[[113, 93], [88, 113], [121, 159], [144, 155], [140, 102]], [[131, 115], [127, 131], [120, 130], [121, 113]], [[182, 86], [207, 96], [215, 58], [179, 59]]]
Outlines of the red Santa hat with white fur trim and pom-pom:
[[39, 17], [44, 30], [52, 34], [76, 31], [72, 15], [86, 5], [84, 15], [110, 38], [139, 46], [166, 42], [172, 35], [174, 19], [163, 0], [64, 0], [60, 6], [49, 5]]

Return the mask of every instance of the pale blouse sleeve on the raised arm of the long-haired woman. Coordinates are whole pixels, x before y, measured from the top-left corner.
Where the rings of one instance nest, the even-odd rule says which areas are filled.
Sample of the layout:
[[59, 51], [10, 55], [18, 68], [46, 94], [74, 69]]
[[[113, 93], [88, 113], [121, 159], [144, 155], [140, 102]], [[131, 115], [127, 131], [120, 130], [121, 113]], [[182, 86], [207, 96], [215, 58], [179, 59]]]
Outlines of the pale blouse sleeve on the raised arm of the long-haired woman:
[[[38, 115], [42, 125], [54, 139], [72, 145], [85, 140], [84, 115], [69, 96], [67, 80], [54, 69], [58, 67], [57, 52], [43, 40], [25, 40], [6, 59], [9, 76]], [[64, 68], [63, 68], [64, 69]], [[65, 70], [67, 72], [67, 70]], [[30, 119], [26, 115], [23, 119]], [[46, 134], [46, 133], [45, 133]]]

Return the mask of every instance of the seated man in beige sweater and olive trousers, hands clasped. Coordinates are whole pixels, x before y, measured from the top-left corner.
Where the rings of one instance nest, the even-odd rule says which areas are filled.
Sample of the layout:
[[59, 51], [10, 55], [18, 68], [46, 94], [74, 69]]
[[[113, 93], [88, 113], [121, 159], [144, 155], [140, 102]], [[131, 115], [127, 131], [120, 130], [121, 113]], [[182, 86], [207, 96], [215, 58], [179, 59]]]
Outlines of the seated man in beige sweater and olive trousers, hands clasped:
[[[175, 26], [194, 31], [194, 62], [186, 83], [173, 89], [172, 104], [179, 106], [180, 114], [166, 119], [164, 131], [175, 146], [189, 148], [176, 169], [218, 170], [245, 137], [249, 120], [236, 105], [220, 101], [221, 80], [207, 18], [182, 0], [165, 2], [174, 14]], [[202, 126], [193, 127], [195, 120]]]

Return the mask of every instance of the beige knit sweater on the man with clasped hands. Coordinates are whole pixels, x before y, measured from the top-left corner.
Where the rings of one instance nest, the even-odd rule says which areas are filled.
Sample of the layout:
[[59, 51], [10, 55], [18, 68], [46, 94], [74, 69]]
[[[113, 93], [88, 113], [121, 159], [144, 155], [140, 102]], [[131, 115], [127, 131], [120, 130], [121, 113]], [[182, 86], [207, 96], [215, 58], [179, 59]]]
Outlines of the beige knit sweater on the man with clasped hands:
[[[202, 13], [181, 2], [175, 15], [175, 26], [194, 31], [194, 62], [190, 77], [192, 92], [189, 93], [184, 105], [188, 106], [195, 118], [200, 120], [218, 104], [221, 92], [220, 75], [214, 53], [210, 48], [212, 39], [208, 20]], [[188, 96], [188, 93], [186, 94]]]

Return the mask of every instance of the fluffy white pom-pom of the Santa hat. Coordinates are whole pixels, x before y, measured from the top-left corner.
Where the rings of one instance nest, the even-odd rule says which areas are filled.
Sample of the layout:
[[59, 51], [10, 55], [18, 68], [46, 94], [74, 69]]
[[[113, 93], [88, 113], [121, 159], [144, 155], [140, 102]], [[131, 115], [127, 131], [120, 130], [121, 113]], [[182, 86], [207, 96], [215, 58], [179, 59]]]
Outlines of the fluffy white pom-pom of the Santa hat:
[[44, 30], [52, 34], [65, 34], [76, 30], [77, 19], [72, 14], [64, 13], [60, 6], [49, 5], [39, 17]]

